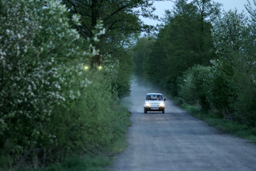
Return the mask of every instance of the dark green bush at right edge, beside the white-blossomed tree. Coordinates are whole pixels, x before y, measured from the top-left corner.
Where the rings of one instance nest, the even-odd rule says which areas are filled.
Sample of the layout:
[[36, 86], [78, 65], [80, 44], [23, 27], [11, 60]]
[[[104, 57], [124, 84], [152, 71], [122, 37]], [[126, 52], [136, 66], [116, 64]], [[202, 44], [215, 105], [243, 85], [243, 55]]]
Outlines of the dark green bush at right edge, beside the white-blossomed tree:
[[[251, 46], [252, 49], [254, 47]], [[247, 47], [248, 49], [248, 47]], [[236, 95], [230, 105], [234, 109], [234, 117], [250, 127], [256, 126], [256, 84], [255, 84], [255, 56], [240, 54], [234, 62], [235, 76], [231, 77], [231, 88]]]

